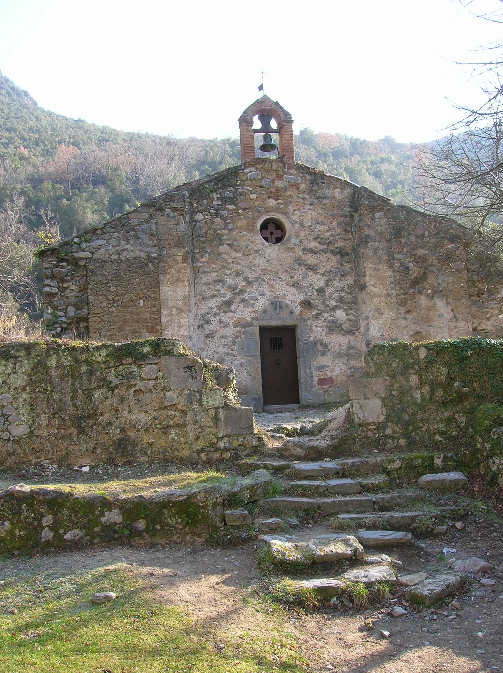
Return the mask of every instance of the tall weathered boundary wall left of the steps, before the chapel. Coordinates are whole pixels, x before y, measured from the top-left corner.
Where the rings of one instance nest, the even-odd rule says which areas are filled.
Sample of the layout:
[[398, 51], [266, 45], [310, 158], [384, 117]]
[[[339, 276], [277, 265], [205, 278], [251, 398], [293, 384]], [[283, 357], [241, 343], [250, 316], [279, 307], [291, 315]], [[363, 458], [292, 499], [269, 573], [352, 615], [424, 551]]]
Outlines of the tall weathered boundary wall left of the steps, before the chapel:
[[0, 346], [0, 466], [225, 460], [262, 439], [233, 369], [178, 339]]

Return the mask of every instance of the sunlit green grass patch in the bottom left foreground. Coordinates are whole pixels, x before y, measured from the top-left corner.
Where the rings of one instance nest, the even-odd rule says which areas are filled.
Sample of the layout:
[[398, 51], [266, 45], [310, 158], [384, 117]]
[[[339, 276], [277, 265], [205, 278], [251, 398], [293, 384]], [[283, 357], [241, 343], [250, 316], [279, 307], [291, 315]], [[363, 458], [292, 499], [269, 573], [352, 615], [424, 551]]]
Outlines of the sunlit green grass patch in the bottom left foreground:
[[[43, 591], [42, 591], [43, 589]], [[95, 591], [118, 598], [93, 605]], [[15, 614], [6, 614], [15, 608]], [[0, 587], [2, 673], [282, 673], [305, 671], [293, 636], [274, 623], [267, 635], [196, 623], [156, 600], [144, 577], [119, 564], [51, 579], [15, 577]]]

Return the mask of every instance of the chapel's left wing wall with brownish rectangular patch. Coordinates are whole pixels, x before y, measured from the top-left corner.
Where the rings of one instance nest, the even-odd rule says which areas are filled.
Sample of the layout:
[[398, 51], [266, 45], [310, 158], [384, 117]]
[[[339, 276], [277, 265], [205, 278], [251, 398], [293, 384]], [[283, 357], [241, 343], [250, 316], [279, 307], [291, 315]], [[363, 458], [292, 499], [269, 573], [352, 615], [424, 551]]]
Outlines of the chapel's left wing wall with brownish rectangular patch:
[[194, 345], [192, 236], [180, 192], [41, 253], [53, 336], [95, 341], [167, 336]]

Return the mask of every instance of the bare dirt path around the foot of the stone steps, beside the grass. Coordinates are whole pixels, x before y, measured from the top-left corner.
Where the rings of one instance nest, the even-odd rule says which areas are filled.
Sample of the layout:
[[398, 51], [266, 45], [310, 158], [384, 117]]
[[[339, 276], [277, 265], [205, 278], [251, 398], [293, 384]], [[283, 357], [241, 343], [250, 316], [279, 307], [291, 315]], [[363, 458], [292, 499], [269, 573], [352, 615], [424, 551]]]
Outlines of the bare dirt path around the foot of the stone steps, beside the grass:
[[[116, 563], [128, 563], [134, 573], [149, 579], [152, 600], [182, 606], [196, 621], [219, 634], [238, 635], [248, 631], [268, 638], [274, 627], [293, 633], [299, 651], [309, 661], [307, 671], [334, 670], [340, 673], [430, 673], [436, 671], [479, 673], [503, 672], [503, 559], [501, 538], [480, 541], [485, 531], [474, 520], [461, 534], [453, 533], [449, 542], [487, 557], [496, 569], [496, 585], [484, 587], [474, 581], [459, 597], [463, 610], [453, 608], [424, 610], [400, 618], [387, 614], [389, 607], [365, 614], [342, 614], [325, 610], [299, 614], [273, 610], [254, 590], [260, 577], [256, 566], [256, 543], [215, 549], [193, 544], [134, 549], [129, 547], [54, 553], [32, 559], [0, 562], [0, 578], [46, 573], [52, 577]], [[445, 542], [432, 541], [422, 548], [423, 568], [436, 563], [435, 555]], [[388, 550], [389, 551], [389, 550]], [[414, 555], [400, 554], [404, 571], [415, 569]], [[243, 598], [245, 600], [243, 600]], [[454, 616], [455, 618], [450, 618]], [[364, 618], [378, 621], [372, 631]], [[379, 631], [391, 633], [383, 639]], [[481, 634], [481, 635], [477, 635]], [[332, 667], [332, 668], [330, 668]]]

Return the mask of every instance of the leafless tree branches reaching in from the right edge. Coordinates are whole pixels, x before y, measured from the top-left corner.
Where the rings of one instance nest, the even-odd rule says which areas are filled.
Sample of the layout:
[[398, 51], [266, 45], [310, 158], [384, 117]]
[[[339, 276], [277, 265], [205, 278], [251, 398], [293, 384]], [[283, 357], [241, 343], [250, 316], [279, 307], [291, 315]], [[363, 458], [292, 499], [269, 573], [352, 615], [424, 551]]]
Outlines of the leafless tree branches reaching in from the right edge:
[[[477, 13], [477, 0], [460, 0], [481, 20], [503, 23], [503, 0], [490, 13]], [[431, 213], [456, 217], [494, 245], [503, 238], [503, 42], [481, 48], [471, 65], [483, 77], [483, 102], [458, 106], [451, 133], [418, 148], [414, 199]]]

